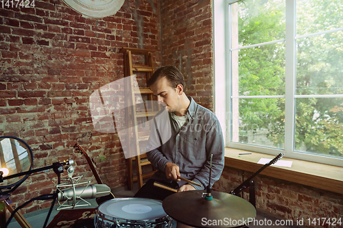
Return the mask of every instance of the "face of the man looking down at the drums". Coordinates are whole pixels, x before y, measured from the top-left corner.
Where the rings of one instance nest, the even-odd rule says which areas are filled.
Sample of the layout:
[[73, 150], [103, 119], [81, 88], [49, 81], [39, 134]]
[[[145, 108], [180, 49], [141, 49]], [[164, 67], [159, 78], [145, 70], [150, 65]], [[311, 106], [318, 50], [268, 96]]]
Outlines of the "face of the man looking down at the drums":
[[161, 77], [150, 87], [154, 95], [168, 112], [180, 111], [180, 88], [171, 88], [166, 77]]

